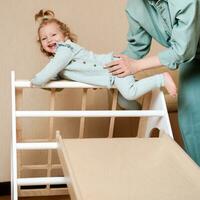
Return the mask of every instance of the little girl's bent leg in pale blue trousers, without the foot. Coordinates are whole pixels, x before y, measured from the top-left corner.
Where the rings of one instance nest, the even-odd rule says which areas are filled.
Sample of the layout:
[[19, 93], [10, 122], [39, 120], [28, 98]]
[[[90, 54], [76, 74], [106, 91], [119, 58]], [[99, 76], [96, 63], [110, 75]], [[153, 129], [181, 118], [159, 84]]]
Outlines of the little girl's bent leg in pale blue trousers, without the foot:
[[164, 76], [158, 74], [139, 81], [135, 81], [133, 76], [115, 77], [114, 85], [125, 99], [135, 100], [155, 88], [164, 86]]

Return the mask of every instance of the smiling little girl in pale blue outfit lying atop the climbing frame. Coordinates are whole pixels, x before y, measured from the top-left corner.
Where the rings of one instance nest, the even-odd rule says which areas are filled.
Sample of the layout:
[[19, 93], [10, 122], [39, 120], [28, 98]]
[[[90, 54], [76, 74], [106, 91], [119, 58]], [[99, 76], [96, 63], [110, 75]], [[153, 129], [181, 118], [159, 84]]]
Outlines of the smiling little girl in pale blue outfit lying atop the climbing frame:
[[41, 20], [38, 28], [40, 49], [52, 58], [31, 80], [32, 85], [43, 87], [59, 77], [107, 88], [114, 85], [121, 93], [121, 98], [126, 100], [135, 100], [162, 86], [170, 95], [176, 95], [176, 86], [169, 73], [157, 74], [139, 81], [135, 81], [132, 75], [124, 78], [113, 76], [105, 68], [107, 63], [118, 59], [112, 53], [95, 54], [76, 44], [76, 36], [66, 24], [54, 18], [54, 13], [50, 10], [41, 10], [35, 15], [35, 20]]

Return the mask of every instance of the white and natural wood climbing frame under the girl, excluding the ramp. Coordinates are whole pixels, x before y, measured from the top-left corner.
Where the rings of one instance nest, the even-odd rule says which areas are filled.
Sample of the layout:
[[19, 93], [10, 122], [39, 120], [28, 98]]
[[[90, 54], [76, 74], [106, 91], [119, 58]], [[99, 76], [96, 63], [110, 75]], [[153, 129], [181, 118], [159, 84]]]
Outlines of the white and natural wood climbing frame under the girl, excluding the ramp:
[[[50, 185], [67, 184], [70, 182], [68, 178], [51, 177], [51, 169], [61, 168], [58, 164], [52, 164], [52, 150], [58, 148], [56, 142], [21, 142], [22, 123], [21, 118], [31, 117], [48, 117], [49, 118], [49, 136], [47, 141], [53, 141], [53, 125], [56, 117], [78, 117], [80, 118], [79, 138], [84, 137], [85, 118], [88, 117], [108, 117], [110, 118], [108, 137], [113, 137], [114, 123], [116, 117], [140, 117], [138, 137], [149, 137], [153, 128], [165, 130], [165, 132], [173, 138], [172, 130], [167, 113], [164, 95], [160, 90], [155, 90], [151, 94], [147, 94], [143, 99], [142, 110], [116, 110], [117, 108], [117, 90], [112, 88], [113, 98], [111, 110], [86, 110], [87, 90], [90, 88], [101, 88], [99, 86], [88, 85], [73, 81], [51, 82], [45, 88], [52, 89], [50, 97], [49, 111], [25, 111], [21, 110], [23, 89], [31, 88], [30, 81], [15, 80], [15, 72], [11, 72], [11, 91], [12, 91], [12, 200], [17, 200], [18, 196], [38, 196], [38, 195], [61, 195], [67, 194], [66, 188], [52, 189]], [[76, 110], [55, 110], [55, 88], [82, 88], [82, 105], [81, 109]], [[28, 150], [48, 150], [48, 163], [43, 165], [22, 165], [21, 151]], [[47, 169], [47, 177], [37, 178], [21, 178], [22, 169]], [[21, 186], [46, 185], [41, 190], [23, 191]]]

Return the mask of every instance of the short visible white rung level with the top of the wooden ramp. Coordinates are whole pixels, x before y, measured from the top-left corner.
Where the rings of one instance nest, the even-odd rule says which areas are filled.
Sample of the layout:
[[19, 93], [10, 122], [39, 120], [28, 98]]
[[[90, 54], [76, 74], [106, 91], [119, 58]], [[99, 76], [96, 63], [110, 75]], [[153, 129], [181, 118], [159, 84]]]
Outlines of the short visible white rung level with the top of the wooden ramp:
[[40, 149], [57, 149], [57, 142], [26, 142], [26, 143], [17, 143], [16, 148], [18, 150], [40, 150]]

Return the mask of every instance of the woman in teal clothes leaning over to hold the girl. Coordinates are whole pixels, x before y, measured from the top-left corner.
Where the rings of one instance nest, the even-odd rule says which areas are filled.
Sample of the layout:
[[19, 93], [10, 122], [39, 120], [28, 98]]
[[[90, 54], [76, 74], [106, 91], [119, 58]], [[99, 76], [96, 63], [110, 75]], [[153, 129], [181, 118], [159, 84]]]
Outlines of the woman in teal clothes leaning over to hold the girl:
[[[161, 65], [179, 68], [179, 125], [186, 152], [200, 165], [200, 1], [129, 0], [126, 12], [128, 47], [107, 68], [119, 77]], [[167, 49], [143, 58], [152, 38]]]

